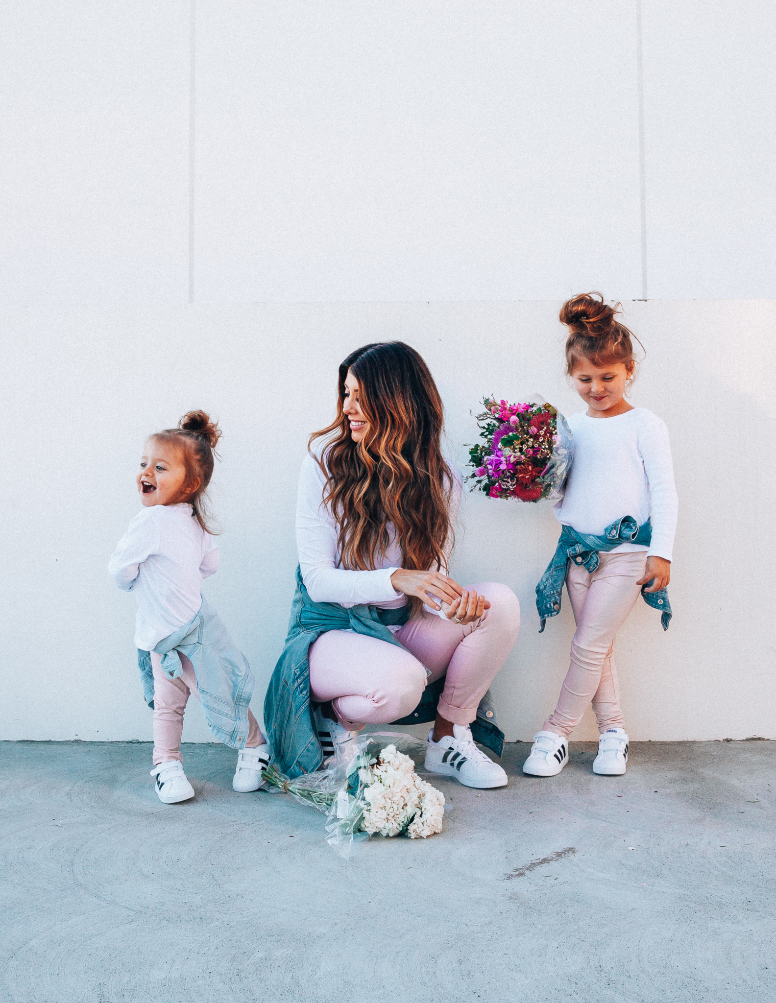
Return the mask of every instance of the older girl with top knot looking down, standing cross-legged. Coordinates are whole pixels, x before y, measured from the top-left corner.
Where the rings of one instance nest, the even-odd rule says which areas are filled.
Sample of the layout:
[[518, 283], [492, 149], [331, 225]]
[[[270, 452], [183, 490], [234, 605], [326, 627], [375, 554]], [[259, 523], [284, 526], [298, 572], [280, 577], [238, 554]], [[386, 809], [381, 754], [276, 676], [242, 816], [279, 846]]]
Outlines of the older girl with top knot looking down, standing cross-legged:
[[537, 586], [542, 627], [560, 610], [565, 581], [576, 633], [557, 706], [534, 736], [523, 771], [553, 776], [568, 762], [568, 738], [592, 701], [598, 722], [593, 772], [621, 774], [628, 737], [619, 706], [614, 637], [639, 592], [671, 620], [671, 579], [678, 499], [665, 423], [625, 392], [633, 379], [631, 334], [598, 293], [563, 304], [566, 368], [586, 405], [569, 418], [574, 460], [555, 506], [560, 541]]

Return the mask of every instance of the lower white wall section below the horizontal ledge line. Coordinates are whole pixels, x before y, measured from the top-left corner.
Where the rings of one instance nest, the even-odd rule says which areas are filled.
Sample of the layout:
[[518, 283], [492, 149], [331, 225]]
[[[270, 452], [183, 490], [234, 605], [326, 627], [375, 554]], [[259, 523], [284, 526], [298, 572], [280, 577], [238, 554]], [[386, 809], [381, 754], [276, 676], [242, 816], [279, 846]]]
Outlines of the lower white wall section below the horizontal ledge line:
[[[2, 734], [148, 738], [134, 601], [107, 578], [138, 509], [145, 436], [190, 407], [225, 437], [214, 500], [222, 570], [206, 591], [258, 679], [285, 636], [296, 563], [293, 499], [306, 434], [329, 419], [336, 366], [367, 338], [403, 338], [446, 401], [466, 459], [478, 398], [539, 391], [567, 411], [559, 302], [14, 308], [3, 417], [6, 539]], [[668, 633], [639, 603], [618, 642], [634, 739], [776, 737], [773, 303], [628, 304], [649, 356], [633, 400], [673, 435], [682, 498]], [[768, 347], [765, 347], [768, 346]], [[508, 737], [541, 724], [566, 668], [565, 608], [539, 636], [533, 589], [557, 539], [546, 505], [469, 495], [454, 572], [517, 592], [523, 631], [496, 681]], [[199, 723], [197, 723], [199, 722]], [[196, 724], [196, 727], [195, 727]], [[207, 738], [197, 709], [189, 737]], [[585, 721], [579, 735], [591, 735]]]

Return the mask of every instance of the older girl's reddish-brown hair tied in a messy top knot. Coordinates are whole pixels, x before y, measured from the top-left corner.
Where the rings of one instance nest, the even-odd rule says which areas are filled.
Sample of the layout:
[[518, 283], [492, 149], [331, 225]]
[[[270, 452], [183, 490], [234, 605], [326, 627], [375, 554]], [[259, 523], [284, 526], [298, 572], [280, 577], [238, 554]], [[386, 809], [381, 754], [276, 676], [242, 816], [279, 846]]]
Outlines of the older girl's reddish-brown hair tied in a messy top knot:
[[[566, 371], [570, 376], [581, 358], [594, 366], [623, 362], [635, 364], [633, 342], [638, 338], [616, 319], [621, 305], [610, 307], [600, 293], [580, 293], [560, 308], [560, 323], [568, 328]], [[638, 341], [641, 345], [641, 342]], [[643, 348], [643, 345], [641, 345]]]

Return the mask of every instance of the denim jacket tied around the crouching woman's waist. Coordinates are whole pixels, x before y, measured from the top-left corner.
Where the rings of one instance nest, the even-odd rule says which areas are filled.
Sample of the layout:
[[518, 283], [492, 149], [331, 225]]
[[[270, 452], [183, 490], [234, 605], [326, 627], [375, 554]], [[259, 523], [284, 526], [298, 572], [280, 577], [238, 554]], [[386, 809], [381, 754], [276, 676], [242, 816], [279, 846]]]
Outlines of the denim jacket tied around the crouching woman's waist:
[[[329, 630], [353, 630], [356, 634], [402, 645], [389, 627], [407, 623], [407, 606], [381, 609], [377, 606], [351, 606], [338, 603], [313, 603], [296, 569], [296, 594], [291, 604], [288, 635], [283, 652], [275, 665], [264, 698], [264, 726], [272, 746], [273, 761], [291, 778], [311, 773], [320, 766], [323, 755], [312, 723], [310, 708], [310, 645]], [[394, 724], [422, 724], [433, 721], [444, 679], [428, 686], [415, 712]], [[488, 716], [486, 716], [488, 715]], [[474, 738], [501, 755], [504, 733], [496, 723], [490, 691], [480, 701], [477, 720], [471, 725]]]

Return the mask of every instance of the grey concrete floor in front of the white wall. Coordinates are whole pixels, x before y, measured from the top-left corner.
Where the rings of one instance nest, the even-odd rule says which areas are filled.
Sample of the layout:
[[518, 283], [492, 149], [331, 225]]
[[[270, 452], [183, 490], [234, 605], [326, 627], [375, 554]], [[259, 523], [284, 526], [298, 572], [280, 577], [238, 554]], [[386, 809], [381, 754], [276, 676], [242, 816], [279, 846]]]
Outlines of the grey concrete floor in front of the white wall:
[[776, 742], [634, 744], [611, 778], [576, 745], [544, 780], [527, 749], [345, 863], [224, 746], [166, 806], [149, 745], [0, 743], [0, 1000], [773, 1003]]

